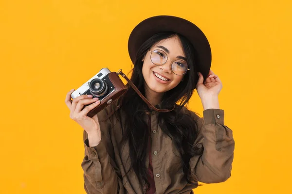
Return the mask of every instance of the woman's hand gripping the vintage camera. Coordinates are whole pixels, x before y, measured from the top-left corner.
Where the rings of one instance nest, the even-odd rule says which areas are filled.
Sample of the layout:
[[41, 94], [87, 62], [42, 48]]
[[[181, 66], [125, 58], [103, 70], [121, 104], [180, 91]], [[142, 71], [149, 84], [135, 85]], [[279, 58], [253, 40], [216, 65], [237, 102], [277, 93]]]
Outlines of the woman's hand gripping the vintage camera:
[[[98, 98], [92, 98], [91, 95], [81, 95], [71, 100], [71, 94], [73, 91], [74, 89], [68, 92], [65, 99], [65, 103], [70, 109], [70, 118], [78, 123], [89, 136], [90, 134], [94, 134], [94, 136], [97, 135], [98, 139], [100, 139], [101, 133], [97, 114], [95, 114], [92, 118], [87, 116], [87, 113], [97, 107], [100, 104], [100, 101]], [[85, 105], [88, 106], [83, 109]]]

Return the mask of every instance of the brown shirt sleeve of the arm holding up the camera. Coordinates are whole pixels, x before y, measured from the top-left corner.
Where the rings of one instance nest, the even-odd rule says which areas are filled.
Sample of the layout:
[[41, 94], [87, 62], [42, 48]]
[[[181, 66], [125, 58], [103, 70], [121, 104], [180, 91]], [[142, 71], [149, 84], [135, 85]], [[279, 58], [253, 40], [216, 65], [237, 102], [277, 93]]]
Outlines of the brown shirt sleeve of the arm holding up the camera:
[[108, 128], [110, 125], [100, 123], [100, 127], [103, 128], [101, 129], [102, 140], [93, 147], [89, 146], [88, 134], [83, 130], [85, 152], [81, 167], [84, 171], [84, 189], [87, 194], [122, 194], [124, 193], [123, 183], [106, 146], [109, 144], [107, 135], [105, 135], [108, 129], [104, 128]]

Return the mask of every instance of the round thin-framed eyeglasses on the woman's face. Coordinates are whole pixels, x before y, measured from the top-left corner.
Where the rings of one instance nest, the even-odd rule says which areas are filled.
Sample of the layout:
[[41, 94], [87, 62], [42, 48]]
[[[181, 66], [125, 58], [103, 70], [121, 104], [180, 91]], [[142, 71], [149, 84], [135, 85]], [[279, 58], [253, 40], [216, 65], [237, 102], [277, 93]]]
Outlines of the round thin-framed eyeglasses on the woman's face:
[[[164, 65], [167, 62], [167, 54], [163, 50], [149, 50], [151, 52], [150, 59], [155, 65]], [[187, 63], [183, 60], [175, 60], [171, 64], [171, 71], [176, 75], [183, 75], [188, 70]]]

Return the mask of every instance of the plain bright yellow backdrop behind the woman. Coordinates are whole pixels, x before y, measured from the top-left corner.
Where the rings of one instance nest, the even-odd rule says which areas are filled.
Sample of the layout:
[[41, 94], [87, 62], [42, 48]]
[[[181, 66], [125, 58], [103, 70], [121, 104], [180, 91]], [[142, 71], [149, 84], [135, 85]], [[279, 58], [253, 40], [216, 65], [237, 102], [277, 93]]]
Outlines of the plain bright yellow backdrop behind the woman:
[[0, 194], [85, 194], [65, 96], [102, 67], [128, 73], [128, 35], [155, 15], [206, 34], [234, 131], [232, 177], [195, 193], [292, 193], [291, 0], [0, 0]]

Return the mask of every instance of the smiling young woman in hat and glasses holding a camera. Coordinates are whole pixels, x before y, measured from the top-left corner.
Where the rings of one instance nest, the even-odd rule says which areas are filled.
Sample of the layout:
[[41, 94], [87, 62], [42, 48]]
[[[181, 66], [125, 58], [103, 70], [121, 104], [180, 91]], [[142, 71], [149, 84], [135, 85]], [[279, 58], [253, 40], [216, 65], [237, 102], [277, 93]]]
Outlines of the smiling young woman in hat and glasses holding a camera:
[[[211, 49], [193, 23], [155, 16], [132, 31], [131, 81], [156, 108], [128, 87], [126, 94], [92, 118], [94, 96], [66, 97], [71, 118], [84, 129], [84, 188], [88, 194], [192, 194], [199, 184], [231, 175], [234, 139], [224, 125], [218, 95], [222, 83]], [[203, 117], [184, 105], [196, 89]], [[89, 105], [83, 109], [85, 105]]]

